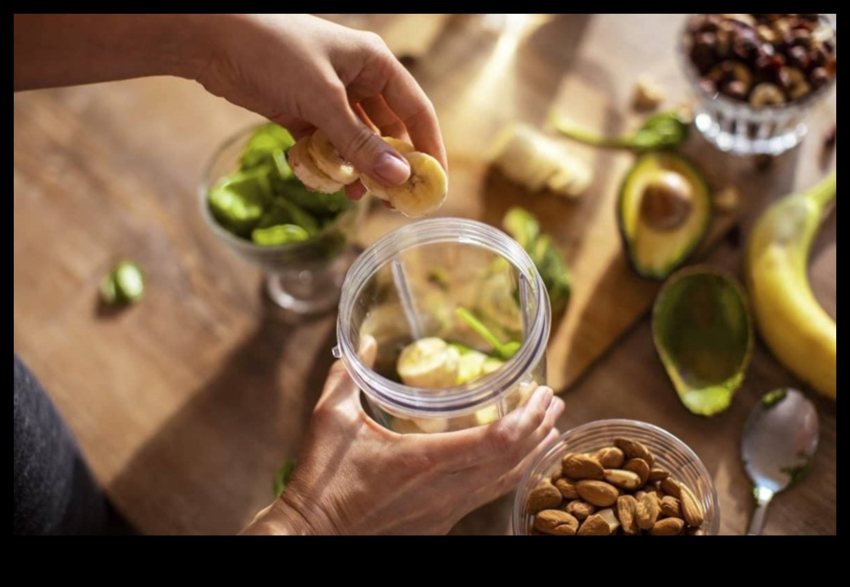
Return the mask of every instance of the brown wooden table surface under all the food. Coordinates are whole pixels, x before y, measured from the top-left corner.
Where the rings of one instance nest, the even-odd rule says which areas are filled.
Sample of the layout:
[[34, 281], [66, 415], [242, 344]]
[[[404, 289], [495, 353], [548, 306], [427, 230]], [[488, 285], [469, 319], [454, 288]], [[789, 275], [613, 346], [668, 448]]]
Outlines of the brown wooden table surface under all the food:
[[[483, 149], [493, 121], [456, 100], [476, 56], [496, 50], [494, 15], [328, 15], [381, 33], [411, 62], [438, 109], [457, 161]], [[648, 73], [671, 100], [687, 96], [672, 43], [682, 14], [531, 15], [512, 87], [482, 100], [504, 122], [541, 124], [553, 103], [627, 126], [632, 85]], [[496, 26], [491, 26], [496, 24]], [[500, 104], [496, 107], [493, 104]], [[198, 212], [201, 170], [216, 146], [256, 116], [170, 78], [14, 95], [14, 349], [77, 433], [96, 477], [145, 533], [234, 533], [271, 500], [271, 477], [297, 454], [331, 364], [334, 315], [298, 319], [275, 308], [261, 276], [224, 250]], [[752, 161], [694, 149], [717, 182], [743, 189], [746, 234], [764, 203], [835, 166], [820, 136], [835, 99], [813, 116], [802, 147], [758, 171]], [[620, 173], [613, 167], [612, 175]], [[616, 183], [616, 182], [614, 182]], [[456, 192], [455, 192], [456, 193]], [[479, 195], [458, 212], [490, 217]], [[377, 211], [364, 242], [388, 223]], [[547, 218], [552, 229], [557, 218]], [[120, 313], [99, 306], [112, 262], [142, 262], [150, 287]], [[740, 270], [740, 241], [705, 258]], [[836, 316], [836, 213], [819, 234], [813, 288]], [[752, 507], [740, 466], [748, 410], [774, 387], [805, 389], [757, 342], [734, 404], [711, 419], [679, 403], [643, 317], [563, 392], [561, 430], [603, 418], [646, 420], [700, 454], [720, 495], [722, 533], [743, 533]], [[836, 533], [836, 404], [809, 392], [821, 437], [809, 477], [780, 494], [766, 533]], [[506, 533], [513, 496], [475, 511], [455, 533]]]

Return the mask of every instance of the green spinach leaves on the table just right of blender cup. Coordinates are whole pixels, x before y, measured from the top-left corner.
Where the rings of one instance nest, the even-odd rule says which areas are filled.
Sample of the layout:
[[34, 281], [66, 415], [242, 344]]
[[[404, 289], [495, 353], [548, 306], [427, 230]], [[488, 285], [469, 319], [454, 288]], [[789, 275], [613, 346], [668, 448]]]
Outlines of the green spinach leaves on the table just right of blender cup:
[[507, 211], [501, 221], [510, 234], [529, 254], [537, 272], [546, 285], [552, 312], [557, 314], [567, 307], [572, 293], [570, 268], [564, 256], [548, 234], [540, 233], [540, 223], [530, 212], [515, 206]]

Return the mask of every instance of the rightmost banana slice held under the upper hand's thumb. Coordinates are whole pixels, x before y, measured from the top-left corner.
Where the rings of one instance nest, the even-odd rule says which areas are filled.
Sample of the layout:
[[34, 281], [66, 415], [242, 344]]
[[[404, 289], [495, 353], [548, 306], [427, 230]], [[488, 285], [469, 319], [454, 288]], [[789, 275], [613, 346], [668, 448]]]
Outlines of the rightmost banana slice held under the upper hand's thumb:
[[370, 190], [382, 200], [388, 200], [396, 210], [406, 217], [427, 216], [443, 205], [449, 191], [449, 178], [443, 166], [431, 155], [413, 151], [405, 153], [411, 165], [411, 177], [405, 183], [394, 186], [375, 185]]

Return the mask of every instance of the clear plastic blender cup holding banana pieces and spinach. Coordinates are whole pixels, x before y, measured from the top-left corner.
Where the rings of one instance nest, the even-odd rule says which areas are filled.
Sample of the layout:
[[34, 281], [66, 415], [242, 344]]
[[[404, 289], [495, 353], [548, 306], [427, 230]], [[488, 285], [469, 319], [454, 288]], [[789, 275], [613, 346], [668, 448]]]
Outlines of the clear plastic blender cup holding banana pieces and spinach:
[[[458, 310], [473, 314], [502, 343], [519, 342], [519, 350], [462, 385], [403, 385], [395, 365], [412, 341], [436, 336], [498, 354]], [[334, 353], [382, 426], [449, 432], [498, 420], [546, 382], [550, 326], [546, 287], [515, 240], [473, 220], [433, 218], [385, 235], [354, 262], [343, 283]], [[363, 336], [377, 341], [372, 368], [357, 354]]]

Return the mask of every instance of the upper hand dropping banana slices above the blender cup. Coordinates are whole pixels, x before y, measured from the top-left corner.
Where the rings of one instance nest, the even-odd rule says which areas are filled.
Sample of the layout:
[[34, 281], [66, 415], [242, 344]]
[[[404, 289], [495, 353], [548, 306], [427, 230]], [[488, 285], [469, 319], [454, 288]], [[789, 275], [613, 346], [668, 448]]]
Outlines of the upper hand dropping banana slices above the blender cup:
[[[197, 75], [209, 92], [296, 137], [321, 128], [384, 185], [404, 183], [410, 166], [381, 135], [410, 141], [447, 169], [433, 105], [381, 37], [307, 14], [233, 15], [218, 27], [212, 59]], [[364, 191], [360, 182], [348, 186], [354, 199]]]

